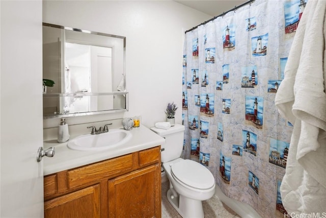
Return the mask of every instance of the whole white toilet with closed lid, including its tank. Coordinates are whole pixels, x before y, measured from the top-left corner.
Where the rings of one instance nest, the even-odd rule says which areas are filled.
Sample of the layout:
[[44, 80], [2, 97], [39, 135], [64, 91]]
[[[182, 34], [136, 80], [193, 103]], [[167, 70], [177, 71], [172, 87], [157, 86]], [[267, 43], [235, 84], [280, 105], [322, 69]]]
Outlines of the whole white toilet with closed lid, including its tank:
[[161, 145], [162, 167], [170, 181], [167, 198], [170, 204], [183, 217], [204, 217], [202, 201], [215, 193], [215, 179], [202, 164], [182, 159], [184, 126], [165, 129], [151, 128], [165, 138]]

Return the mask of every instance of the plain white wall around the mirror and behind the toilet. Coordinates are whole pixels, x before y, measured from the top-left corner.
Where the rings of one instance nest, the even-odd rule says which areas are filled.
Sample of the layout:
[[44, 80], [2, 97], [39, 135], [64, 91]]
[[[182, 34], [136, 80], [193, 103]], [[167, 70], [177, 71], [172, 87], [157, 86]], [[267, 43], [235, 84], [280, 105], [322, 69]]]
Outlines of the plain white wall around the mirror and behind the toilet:
[[[142, 116], [152, 127], [165, 121], [169, 102], [182, 114], [184, 31], [210, 19], [173, 1], [43, 1], [43, 22], [126, 37], [126, 84], [129, 111], [122, 114], [70, 117], [68, 124]], [[44, 128], [59, 119], [44, 120]]]

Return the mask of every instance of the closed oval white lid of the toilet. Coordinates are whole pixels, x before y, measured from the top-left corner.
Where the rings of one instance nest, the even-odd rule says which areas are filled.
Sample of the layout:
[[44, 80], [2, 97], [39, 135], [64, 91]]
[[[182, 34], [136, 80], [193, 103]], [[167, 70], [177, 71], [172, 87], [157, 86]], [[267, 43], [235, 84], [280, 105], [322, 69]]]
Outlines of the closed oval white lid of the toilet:
[[211, 172], [193, 160], [182, 160], [171, 165], [172, 175], [184, 183], [198, 189], [208, 189], [215, 185]]

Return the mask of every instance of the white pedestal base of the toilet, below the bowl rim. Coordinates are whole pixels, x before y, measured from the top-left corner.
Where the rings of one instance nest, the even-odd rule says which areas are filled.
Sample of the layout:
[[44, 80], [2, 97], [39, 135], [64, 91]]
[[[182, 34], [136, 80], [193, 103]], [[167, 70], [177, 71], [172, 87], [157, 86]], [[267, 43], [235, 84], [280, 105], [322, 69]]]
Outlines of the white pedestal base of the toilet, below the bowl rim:
[[202, 201], [178, 195], [173, 187], [168, 190], [167, 199], [183, 218], [204, 218], [205, 216]]

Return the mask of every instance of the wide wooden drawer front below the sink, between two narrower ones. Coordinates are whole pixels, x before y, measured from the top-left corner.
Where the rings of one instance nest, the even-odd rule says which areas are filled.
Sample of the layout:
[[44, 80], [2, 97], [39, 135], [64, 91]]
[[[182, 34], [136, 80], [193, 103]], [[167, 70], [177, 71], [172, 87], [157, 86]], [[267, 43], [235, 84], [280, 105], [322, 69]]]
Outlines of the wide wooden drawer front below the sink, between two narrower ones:
[[68, 188], [94, 183], [105, 177], [113, 178], [132, 171], [132, 154], [72, 169], [67, 172]]

